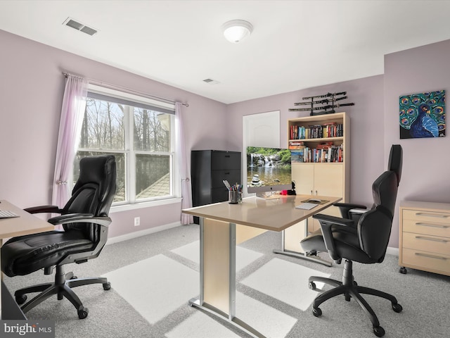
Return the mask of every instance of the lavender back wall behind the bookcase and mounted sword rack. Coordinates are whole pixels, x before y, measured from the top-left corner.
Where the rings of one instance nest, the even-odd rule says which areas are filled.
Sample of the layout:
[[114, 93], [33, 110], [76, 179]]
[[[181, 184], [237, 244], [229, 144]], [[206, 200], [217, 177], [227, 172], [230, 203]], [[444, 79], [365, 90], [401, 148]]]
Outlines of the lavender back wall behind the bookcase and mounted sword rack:
[[[281, 146], [288, 146], [288, 119], [308, 116], [309, 112], [288, 111], [295, 108], [295, 102], [302, 97], [327, 92], [347, 92], [348, 99], [342, 102], [354, 102], [354, 106], [345, 106], [338, 111], [345, 111], [350, 117], [350, 200], [366, 204], [372, 203], [371, 184], [384, 170], [383, 139], [383, 75], [366, 77], [360, 80], [340, 82], [321, 87], [303, 89], [262, 99], [231, 104], [228, 114], [234, 125], [242, 125], [243, 115], [280, 111]], [[229, 137], [230, 148], [242, 149], [242, 127], [236, 128], [233, 137]], [[239, 148], [240, 147], [240, 148]]]

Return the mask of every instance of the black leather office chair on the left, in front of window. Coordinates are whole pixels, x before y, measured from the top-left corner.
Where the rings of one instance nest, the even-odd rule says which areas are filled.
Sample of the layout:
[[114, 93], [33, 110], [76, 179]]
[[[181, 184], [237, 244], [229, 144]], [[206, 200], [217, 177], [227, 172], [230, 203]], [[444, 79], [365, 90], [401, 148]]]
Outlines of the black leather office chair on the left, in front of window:
[[28, 275], [44, 269], [51, 275], [56, 267], [53, 283], [37, 284], [15, 292], [15, 301], [23, 304], [26, 294], [40, 292], [21, 306], [23, 313], [37, 306], [53, 294], [58, 300], [67, 298], [77, 309], [80, 319], [86, 318], [88, 309], [82, 304], [72, 287], [100, 283], [110, 289], [106, 278], [80, 278], [65, 273], [68, 263], [85, 263], [96, 258], [108, 238], [108, 217], [116, 189], [115, 157], [112, 155], [89, 156], [79, 162], [79, 179], [72, 190], [72, 197], [63, 209], [57, 206], [27, 208], [29, 213], [59, 213], [49, 219], [53, 225], [63, 225], [63, 230], [53, 230], [13, 237], [1, 247], [1, 270], [8, 276]]

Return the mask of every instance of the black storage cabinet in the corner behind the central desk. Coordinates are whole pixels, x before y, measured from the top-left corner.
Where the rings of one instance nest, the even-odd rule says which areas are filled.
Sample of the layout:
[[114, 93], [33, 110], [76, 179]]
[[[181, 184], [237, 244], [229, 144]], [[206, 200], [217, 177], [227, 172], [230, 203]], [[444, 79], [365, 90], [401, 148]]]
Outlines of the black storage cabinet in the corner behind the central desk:
[[[204, 206], [228, 200], [223, 180], [240, 184], [240, 152], [191, 151], [192, 205]], [[198, 218], [194, 218], [198, 223]]]

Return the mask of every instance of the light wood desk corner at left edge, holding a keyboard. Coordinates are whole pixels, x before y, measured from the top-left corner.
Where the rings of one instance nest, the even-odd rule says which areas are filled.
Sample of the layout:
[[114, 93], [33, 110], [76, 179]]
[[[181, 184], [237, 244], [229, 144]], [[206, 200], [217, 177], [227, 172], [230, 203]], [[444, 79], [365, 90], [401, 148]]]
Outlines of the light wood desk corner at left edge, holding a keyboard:
[[[41, 220], [31, 213], [23, 211], [23, 209], [14, 206], [5, 200], [0, 200], [0, 210], [13, 211], [19, 217], [0, 218], [0, 246], [3, 240], [11, 237], [23, 236], [25, 234], [35, 234], [37, 232], [54, 230], [54, 226]], [[1, 259], [1, 257], [0, 257]], [[3, 280], [3, 273], [1, 273]], [[1, 285], [1, 283], [0, 283]], [[0, 286], [1, 287], [1, 286]], [[1, 290], [0, 290], [1, 291]], [[0, 319], [1, 319], [1, 292], [0, 292]]]

